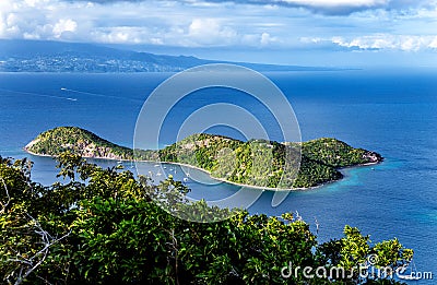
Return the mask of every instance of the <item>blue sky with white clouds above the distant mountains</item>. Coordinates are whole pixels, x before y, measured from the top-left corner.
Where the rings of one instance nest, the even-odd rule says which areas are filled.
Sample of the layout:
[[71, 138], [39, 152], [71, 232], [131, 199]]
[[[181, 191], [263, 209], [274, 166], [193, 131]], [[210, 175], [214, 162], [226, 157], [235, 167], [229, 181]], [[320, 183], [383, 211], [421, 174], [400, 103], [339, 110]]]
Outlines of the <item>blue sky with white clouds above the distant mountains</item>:
[[437, 0], [1, 0], [0, 38], [282, 64], [437, 67]]

